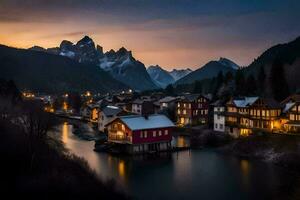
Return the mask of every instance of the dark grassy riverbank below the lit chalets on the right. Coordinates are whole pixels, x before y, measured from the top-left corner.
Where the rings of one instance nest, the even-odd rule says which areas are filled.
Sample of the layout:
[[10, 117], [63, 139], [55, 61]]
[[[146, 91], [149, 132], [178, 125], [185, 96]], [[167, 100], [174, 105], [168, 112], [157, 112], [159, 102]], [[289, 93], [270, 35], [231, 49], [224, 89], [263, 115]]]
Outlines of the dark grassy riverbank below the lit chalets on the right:
[[300, 174], [300, 136], [253, 135], [233, 140], [219, 150], [247, 159], [264, 160]]

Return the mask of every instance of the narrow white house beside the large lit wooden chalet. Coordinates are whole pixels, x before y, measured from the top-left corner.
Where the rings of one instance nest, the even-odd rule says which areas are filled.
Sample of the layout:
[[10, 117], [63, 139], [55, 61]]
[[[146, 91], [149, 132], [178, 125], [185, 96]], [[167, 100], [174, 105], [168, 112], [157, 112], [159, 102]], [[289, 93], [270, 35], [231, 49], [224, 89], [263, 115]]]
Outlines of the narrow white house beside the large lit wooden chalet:
[[214, 131], [225, 132], [225, 104], [218, 100], [211, 104], [214, 110]]

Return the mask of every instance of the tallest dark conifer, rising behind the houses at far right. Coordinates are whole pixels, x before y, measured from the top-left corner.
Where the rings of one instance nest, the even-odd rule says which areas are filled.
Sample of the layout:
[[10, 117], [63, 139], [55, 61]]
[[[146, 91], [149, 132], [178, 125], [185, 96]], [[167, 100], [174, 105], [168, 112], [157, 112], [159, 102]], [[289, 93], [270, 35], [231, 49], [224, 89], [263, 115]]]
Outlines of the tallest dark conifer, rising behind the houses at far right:
[[272, 64], [270, 82], [274, 99], [282, 101], [289, 95], [283, 63], [279, 59], [275, 59]]

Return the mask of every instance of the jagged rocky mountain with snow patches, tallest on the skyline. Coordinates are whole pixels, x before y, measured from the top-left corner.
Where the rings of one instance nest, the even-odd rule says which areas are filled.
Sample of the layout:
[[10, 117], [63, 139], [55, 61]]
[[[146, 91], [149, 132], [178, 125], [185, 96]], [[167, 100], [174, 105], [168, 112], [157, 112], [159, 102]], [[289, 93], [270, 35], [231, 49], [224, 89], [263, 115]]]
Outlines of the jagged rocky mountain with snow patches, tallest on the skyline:
[[135, 90], [157, 88], [147, 73], [144, 64], [136, 60], [131, 51], [127, 51], [122, 47], [116, 52], [110, 50], [104, 53], [103, 48], [95, 45], [94, 41], [88, 36], [84, 36], [76, 44], [64, 40], [59, 47], [44, 49], [35, 46], [31, 50], [65, 56], [79, 63], [97, 65], [109, 72], [115, 79]]

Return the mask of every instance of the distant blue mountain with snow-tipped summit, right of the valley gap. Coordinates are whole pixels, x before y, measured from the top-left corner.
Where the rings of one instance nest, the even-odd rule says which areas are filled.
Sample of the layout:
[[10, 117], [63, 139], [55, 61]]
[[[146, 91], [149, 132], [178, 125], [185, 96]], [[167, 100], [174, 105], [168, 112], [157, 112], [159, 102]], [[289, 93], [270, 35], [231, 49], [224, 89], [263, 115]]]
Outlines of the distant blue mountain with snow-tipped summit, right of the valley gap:
[[223, 74], [227, 72], [235, 72], [238, 68], [238, 65], [236, 65], [234, 62], [225, 59], [220, 58], [218, 61], [210, 61], [207, 64], [205, 64], [203, 67], [189, 73], [185, 77], [179, 79], [176, 81], [176, 85], [180, 84], [189, 84], [193, 83], [195, 81], [200, 81], [203, 79], [209, 79], [213, 78], [218, 75], [219, 72], [223, 72]]

